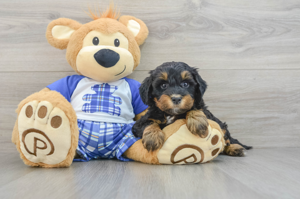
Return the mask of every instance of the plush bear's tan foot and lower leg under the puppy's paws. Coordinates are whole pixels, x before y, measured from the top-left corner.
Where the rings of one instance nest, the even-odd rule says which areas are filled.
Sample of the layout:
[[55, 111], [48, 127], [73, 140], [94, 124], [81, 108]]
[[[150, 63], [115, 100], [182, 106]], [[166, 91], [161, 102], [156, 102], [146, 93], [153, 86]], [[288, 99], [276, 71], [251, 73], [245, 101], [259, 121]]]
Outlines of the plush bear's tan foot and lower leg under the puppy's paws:
[[135, 142], [124, 155], [149, 164], [193, 164], [208, 162], [224, 150], [224, 134], [220, 126], [208, 119], [208, 134], [205, 138], [192, 134], [185, 119], [176, 120], [163, 129], [165, 142], [156, 151], [147, 151], [141, 140]]

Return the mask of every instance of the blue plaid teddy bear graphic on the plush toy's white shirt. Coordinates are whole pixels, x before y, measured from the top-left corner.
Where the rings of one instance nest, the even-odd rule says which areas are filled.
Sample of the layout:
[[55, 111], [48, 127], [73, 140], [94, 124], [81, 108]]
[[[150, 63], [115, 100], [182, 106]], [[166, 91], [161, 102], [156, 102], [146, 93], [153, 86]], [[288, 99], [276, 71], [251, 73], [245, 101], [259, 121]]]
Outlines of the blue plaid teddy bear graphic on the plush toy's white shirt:
[[93, 85], [92, 90], [96, 91], [96, 94], [85, 94], [82, 97], [84, 101], [91, 101], [91, 103], [86, 103], [82, 106], [82, 111], [87, 113], [105, 112], [110, 115], [120, 116], [120, 107], [114, 105], [122, 104], [122, 99], [112, 96], [117, 89], [117, 86], [111, 86], [109, 84]]

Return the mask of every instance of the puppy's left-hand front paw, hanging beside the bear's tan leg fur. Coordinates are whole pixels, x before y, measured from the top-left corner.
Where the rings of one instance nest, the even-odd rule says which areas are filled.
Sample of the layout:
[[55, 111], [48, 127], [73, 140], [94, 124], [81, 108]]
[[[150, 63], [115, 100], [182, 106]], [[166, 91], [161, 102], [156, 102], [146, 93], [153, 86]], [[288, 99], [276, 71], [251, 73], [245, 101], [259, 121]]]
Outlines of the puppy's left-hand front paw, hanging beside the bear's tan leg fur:
[[148, 151], [155, 151], [163, 146], [165, 134], [157, 123], [147, 126], [143, 133], [142, 143]]

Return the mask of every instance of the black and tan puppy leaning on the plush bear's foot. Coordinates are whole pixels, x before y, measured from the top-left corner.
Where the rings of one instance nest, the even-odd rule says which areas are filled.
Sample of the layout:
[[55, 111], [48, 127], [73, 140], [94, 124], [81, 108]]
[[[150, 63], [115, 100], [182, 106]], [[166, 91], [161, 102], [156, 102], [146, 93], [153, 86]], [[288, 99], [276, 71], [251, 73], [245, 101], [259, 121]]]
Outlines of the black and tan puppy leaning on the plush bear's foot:
[[148, 151], [162, 147], [162, 129], [177, 119], [186, 119], [190, 132], [200, 137], [207, 136], [207, 119], [216, 121], [224, 132], [226, 155], [244, 156], [246, 149], [251, 148], [233, 139], [227, 124], [208, 111], [202, 98], [207, 84], [197, 69], [183, 62], [166, 62], [149, 73], [140, 87], [141, 98], [149, 109], [132, 128], [136, 137], [142, 137]]

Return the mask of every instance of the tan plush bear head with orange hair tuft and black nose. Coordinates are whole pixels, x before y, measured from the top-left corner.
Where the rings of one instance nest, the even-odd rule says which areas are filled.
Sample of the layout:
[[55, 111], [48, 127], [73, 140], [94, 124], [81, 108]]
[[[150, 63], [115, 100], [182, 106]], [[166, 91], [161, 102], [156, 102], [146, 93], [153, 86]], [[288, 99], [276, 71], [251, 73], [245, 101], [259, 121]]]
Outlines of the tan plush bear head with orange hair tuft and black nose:
[[111, 82], [132, 73], [140, 63], [139, 45], [148, 36], [145, 23], [133, 16], [119, 17], [113, 5], [100, 16], [91, 12], [91, 17], [94, 20], [86, 24], [66, 18], [52, 21], [48, 42], [67, 49], [66, 59], [80, 75]]

